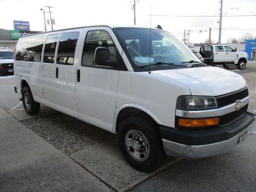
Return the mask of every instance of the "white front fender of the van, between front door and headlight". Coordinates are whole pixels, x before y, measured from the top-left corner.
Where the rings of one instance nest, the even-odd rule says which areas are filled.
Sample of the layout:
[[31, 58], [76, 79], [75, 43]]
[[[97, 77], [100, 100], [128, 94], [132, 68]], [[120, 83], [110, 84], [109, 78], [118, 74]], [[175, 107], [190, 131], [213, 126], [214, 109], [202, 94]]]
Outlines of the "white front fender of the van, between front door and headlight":
[[158, 124], [174, 127], [176, 101], [180, 95], [191, 93], [176, 80], [148, 72], [120, 71], [116, 105], [118, 109], [124, 105], [141, 106], [157, 117], [152, 116]]

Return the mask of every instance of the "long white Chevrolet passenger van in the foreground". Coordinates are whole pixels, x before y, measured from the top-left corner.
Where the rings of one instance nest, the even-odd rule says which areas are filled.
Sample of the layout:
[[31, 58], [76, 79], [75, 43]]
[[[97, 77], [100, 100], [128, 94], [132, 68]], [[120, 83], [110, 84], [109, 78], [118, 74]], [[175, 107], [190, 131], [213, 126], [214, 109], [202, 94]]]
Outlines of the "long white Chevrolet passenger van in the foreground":
[[[118, 134], [126, 161], [152, 170], [170, 156], [224, 153], [252, 130], [245, 80], [198, 58], [172, 34], [137, 26], [88, 26], [22, 37], [16, 92]], [[223, 83], [225, 82], [225, 83]]]

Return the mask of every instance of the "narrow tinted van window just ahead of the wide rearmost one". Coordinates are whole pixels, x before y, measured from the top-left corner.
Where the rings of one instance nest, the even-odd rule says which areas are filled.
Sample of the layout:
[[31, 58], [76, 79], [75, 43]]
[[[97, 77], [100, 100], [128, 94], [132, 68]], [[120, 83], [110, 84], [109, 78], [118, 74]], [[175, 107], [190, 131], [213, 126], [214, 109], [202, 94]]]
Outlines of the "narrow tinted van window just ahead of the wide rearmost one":
[[44, 63], [54, 63], [56, 44], [60, 34], [48, 35], [44, 46]]

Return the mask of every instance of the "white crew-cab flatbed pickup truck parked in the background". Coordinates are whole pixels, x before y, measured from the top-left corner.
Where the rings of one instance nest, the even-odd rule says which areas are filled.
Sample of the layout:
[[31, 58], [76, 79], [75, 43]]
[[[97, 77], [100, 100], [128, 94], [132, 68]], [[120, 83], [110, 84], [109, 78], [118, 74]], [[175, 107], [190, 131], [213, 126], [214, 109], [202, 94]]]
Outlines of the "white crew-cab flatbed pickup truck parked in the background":
[[227, 45], [202, 45], [199, 52], [208, 65], [222, 65], [224, 68], [237, 66], [238, 69], [245, 69], [248, 54], [244, 51], [237, 51]]

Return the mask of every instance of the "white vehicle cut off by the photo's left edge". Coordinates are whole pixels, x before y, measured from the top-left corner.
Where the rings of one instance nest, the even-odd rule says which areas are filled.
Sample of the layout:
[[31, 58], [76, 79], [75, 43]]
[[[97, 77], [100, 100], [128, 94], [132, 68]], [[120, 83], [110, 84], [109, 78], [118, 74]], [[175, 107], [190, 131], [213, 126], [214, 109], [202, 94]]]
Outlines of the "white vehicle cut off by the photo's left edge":
[[8, 48], [0, 48], [0, 74], [13, 73], [14, 52]]

